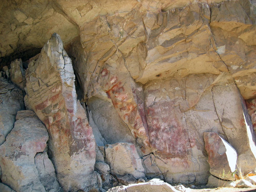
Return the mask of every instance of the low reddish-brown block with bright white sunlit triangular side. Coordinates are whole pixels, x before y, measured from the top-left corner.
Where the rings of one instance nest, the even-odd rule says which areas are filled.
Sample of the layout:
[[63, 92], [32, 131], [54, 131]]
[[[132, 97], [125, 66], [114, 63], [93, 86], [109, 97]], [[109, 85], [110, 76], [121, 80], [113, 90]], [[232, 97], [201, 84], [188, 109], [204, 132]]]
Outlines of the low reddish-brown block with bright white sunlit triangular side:
[[236, 150], [215, 132], [204, 132], [205, 149], [208, 153], [210, 173], [224, 180], [234, 181]]

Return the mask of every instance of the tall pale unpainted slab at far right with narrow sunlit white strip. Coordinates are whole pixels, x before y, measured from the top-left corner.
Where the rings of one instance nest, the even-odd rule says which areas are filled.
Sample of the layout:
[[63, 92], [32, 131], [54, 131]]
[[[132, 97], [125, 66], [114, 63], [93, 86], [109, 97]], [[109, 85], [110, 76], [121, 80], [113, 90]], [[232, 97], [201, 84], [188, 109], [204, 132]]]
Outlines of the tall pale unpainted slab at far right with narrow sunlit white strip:
[[213, 101], [227, 142], [237, 151], [245, 174], [256, 168], [256, 136], [244, 99], [236, 85], [214, 86]]

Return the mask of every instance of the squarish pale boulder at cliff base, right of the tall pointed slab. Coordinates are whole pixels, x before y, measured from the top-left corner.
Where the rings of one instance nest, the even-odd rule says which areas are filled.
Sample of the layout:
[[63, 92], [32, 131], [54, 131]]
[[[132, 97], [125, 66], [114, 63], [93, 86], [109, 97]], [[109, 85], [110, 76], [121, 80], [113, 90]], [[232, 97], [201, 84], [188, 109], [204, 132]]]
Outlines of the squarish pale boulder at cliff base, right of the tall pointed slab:
[[116, 143], [106, 145], [106, 163], [109, 164], [112, 174], [131, 174], [136, 179], [144, 178], [144, 168], [134, 144]]

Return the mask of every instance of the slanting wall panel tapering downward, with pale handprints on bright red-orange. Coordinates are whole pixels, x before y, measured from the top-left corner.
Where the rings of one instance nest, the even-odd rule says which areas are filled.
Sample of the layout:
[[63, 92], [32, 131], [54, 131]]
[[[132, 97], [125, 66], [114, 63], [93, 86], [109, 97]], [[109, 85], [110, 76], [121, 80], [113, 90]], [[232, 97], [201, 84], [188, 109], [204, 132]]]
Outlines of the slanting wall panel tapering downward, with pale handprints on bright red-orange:
[[143, 154], [149, 154], [151, 149], [142, 85], [134, 82], [129, 75], [121, 53], [116, 51], [102, 66], [99, 65], [94, 73], [98, 78], [96, 82], [91, 81], [88, 97], [100, 98], [101, 92], [104, 91], [108, 99], [111, 99], [121, 120], [128, 126], [136, 145]]

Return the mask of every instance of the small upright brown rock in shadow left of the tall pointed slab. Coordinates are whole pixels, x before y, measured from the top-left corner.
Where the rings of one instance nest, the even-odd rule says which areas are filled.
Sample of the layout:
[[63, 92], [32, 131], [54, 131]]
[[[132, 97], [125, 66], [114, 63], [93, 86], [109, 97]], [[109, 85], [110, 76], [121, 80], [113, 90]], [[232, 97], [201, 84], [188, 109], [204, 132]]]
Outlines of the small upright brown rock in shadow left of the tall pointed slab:
[[26, 78], [21, 59], [15, 59], [11, 62], [10, 79], [12, 83], [15, 83], [21, 90], [24, 90]]

